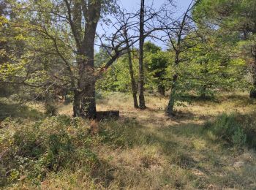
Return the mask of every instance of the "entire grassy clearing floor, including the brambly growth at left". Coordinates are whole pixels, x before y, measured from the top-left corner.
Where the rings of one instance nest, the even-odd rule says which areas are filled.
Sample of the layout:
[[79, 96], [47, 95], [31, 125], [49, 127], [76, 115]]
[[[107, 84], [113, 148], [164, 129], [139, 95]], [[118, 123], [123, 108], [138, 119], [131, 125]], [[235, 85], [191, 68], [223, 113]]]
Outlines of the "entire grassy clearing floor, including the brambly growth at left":
[[[12, 107], [18, 114], [0, 127], [1, 185], [10, 189], [256, 189], [256, 153], [250, 146], [254, 142], [248, 141], [253, 138], [237, 147], [215, 130], [239, 123], [244, 133], [255, 132], [256, 102], [246, 94], [225, 94], [215, 102], [192, 101], [178, 107], [178, 116], [172, 119], [163, 114], [166, 98], [148, 96], [147, 102], [148, 109], [141, 111], [132, 108], [125, 94], [99, 99], [98, 110], [120, 110], [121, 118], [99, 123], [96, 136], [90, 134], [88, 121], [64, 116], [71, 113], [70, 105], [59, 107], [62, 116], [40, 119]], [[234, 111], [230, 122], [217, 117]]]

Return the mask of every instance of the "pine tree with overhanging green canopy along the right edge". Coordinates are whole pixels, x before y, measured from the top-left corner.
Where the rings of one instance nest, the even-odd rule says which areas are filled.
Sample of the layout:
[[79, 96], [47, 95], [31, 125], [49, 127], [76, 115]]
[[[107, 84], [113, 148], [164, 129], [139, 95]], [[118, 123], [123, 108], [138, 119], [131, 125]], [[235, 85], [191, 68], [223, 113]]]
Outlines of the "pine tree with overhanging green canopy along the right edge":
[[[203, 0], [197, 5], [194, 16], [205, 26], [217, 28], [222, 35], [230, 37], [231, 40], [246, 42], [245, 48], [249, 50], [245, 60], [248, 64], [249, 75], [252, 77], [252, 88], [250, 97], [256, 98], [256, 58], [255, 58], [255, 35], [256, 35], [256, 1], [245, 0]], [[245, 47], [245, 44], [244, 44]]]

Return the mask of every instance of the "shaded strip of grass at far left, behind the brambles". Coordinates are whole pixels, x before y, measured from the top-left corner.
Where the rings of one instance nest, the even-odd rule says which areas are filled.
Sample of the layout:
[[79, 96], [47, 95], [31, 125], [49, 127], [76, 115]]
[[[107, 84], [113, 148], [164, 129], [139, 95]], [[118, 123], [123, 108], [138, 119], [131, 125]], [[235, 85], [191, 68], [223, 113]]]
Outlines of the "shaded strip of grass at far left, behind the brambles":
[[26, 105], [0, 102], [0, 121], [8, 117], [38, 120], [43, 118], [43, 113]]

